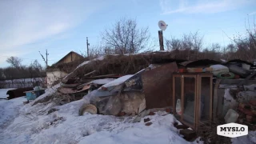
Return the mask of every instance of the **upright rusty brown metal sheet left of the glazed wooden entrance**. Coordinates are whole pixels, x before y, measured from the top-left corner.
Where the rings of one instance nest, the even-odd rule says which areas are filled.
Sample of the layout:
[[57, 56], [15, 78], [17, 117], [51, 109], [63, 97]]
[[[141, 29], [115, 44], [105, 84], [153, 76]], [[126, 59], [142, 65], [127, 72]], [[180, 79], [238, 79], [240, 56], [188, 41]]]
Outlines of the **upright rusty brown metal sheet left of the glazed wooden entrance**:
[[172, 106], [172, 74], [177, 71], [176, 62], [172, 62], [142, 74], [146, 109]]

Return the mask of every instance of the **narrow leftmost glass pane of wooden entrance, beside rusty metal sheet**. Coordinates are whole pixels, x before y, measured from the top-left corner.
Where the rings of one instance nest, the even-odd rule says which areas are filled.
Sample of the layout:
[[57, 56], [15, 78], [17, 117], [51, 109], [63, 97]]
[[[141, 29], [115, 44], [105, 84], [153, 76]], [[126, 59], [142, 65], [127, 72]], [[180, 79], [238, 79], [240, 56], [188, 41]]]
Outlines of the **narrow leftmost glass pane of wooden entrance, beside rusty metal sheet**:
[[175, 77], [175, 110], [176, 117], [180, 118], [182, 114], [182, 78]]

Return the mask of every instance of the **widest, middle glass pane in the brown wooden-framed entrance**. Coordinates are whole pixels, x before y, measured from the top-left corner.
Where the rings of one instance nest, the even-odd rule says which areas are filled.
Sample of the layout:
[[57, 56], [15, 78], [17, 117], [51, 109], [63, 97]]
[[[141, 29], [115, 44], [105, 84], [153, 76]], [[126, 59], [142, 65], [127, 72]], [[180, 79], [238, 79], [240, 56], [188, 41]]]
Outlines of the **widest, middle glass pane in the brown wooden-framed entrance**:
[[195, 78], [184, 78], [183, 121], [194, 125]]

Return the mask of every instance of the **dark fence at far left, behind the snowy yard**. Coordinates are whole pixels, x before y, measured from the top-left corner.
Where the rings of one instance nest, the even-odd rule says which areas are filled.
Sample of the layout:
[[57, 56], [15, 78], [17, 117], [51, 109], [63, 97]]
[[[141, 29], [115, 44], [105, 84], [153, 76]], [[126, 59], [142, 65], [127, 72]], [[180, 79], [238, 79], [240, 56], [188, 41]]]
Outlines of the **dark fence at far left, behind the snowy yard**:
[[34, 86], [46, 86], [46, 78], [24, 78], [0, 81], [0, 88], [24, 88]]

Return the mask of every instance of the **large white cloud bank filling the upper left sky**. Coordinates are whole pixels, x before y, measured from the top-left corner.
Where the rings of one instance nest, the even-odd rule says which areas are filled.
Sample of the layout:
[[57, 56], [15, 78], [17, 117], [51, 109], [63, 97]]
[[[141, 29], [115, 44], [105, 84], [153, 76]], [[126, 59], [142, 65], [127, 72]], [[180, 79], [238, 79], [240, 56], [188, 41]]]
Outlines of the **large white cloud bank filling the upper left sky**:
[[[97, 1], [0, 1], [0, 55], [27, 54], [31, 50], [22, 50], [26, 45], [53, 39], [78, 26], [104, 6], [105, 2]], [[5, 59], [0, 56], [0, 62]]]

